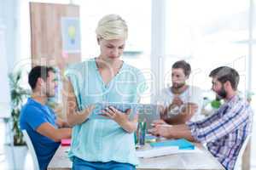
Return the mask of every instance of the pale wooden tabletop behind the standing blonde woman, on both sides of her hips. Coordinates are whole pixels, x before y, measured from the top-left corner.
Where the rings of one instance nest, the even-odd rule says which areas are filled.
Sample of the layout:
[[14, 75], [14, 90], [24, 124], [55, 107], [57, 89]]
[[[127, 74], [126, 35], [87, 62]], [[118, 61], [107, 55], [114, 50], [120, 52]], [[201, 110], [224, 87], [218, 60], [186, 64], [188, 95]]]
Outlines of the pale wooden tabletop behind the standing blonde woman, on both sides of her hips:
[[[224, 167], [201, 144], [195, 144], [202, 152], [179, 153], [170, 156], [140, 159], [137, 170], [224, 170]], [[49, 162], [48, 170], [70, 170], [72, 162], [67, 158], [69, 146], [60, 146]]]

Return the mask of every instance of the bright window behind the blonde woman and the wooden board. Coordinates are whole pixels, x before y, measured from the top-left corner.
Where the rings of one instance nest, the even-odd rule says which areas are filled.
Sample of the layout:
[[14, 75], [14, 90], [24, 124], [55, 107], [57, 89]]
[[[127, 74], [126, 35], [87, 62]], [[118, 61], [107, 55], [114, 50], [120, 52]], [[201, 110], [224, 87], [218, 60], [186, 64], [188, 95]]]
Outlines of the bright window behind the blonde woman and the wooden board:
[[[67, 0], [55, 1], [22, 1], [20, 3], [20, 39], [22, 59], [30, 63], [30, 19], [29, 2], [64, 3]], [[73, 0], [80, 7], [81, 26], [81, 56], [82, 60], [99, 55], [99, 47], [96, 42], [96, 26], [98, 20], [106, 14], [119, 14], [128, 25], [128, 40], [125, 45], [123, 59], [130, 65], [136, 66], [145, 72], [147, 76], [150, 70], [150, 40], [151, 40], [151, 1], [82, 1]], [[30, 65], [30, 64], [28, 64]], [[150, 95], [145, 95], [141, 102], [150, 102]]]

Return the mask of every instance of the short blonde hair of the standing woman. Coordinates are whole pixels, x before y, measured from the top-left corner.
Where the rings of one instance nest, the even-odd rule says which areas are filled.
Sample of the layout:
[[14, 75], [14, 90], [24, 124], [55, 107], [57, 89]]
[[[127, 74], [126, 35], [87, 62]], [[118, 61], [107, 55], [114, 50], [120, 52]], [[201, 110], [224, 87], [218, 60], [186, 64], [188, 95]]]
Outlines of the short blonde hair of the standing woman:
[[125, 20], [118, 14], [108, 14], [98, 22], [96, 35], [98, 38], [103, 38], [105, 40], [119, 38], [126, 40], [128, 36], [128, 28]]

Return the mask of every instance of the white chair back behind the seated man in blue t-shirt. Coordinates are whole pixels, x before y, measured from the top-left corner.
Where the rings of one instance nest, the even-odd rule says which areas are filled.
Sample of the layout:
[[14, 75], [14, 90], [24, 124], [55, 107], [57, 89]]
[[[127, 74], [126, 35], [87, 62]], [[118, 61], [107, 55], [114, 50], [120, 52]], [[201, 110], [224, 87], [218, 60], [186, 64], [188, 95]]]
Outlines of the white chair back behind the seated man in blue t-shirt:
[[26, 145], [28, 147], [29, 152], [32, 155], [32, 161], [33, 161], [33, 165], [34, 165], [34, 170], [40, 170], [39, 168], [39, 163], [38, 163], [38, 156], [36, 155], [36, 152], [34, 150], [34, 146], [32, 144], [32, 141], [28, 135], [28, 133], [26, 132], [26, 130], [22, 130], [24, 139], [26, 141]]

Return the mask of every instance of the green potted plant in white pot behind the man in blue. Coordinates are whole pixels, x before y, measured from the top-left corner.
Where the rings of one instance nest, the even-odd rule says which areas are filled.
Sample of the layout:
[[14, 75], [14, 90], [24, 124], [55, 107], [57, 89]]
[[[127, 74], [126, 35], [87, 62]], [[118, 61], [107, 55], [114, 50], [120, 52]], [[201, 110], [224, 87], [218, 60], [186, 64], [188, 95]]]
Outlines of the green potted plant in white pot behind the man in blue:
[[[29, 90], [20, 86], [21, 71], [9, 73], [9, 87], [11, 95], [11, 122], [13, 131], [13, 144], [14, 144], [14, 160], [10, 162], [14, 168], [24, 168], [25, 158], [27, 153], [26, 142], [23, 139], [22, 132], [20, 131], [19, 119], [20, 109], [24, 103], [24, 99], [30, 94]], [[10, 141], [12, 142], [12, 141]]]

